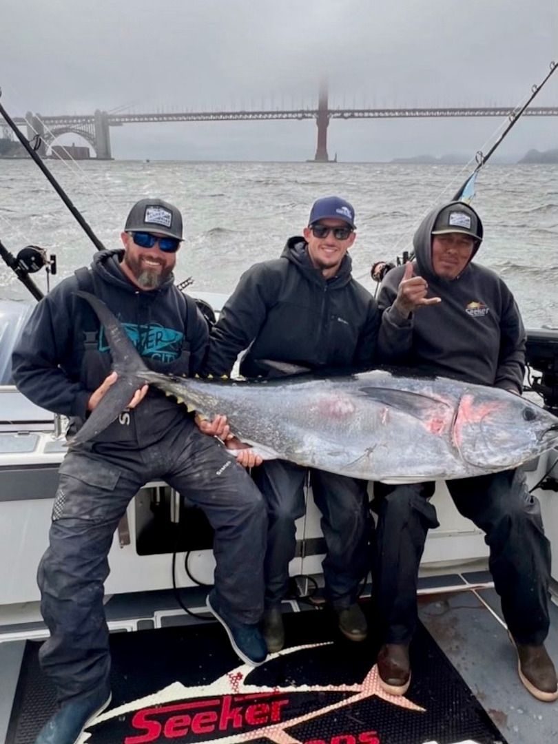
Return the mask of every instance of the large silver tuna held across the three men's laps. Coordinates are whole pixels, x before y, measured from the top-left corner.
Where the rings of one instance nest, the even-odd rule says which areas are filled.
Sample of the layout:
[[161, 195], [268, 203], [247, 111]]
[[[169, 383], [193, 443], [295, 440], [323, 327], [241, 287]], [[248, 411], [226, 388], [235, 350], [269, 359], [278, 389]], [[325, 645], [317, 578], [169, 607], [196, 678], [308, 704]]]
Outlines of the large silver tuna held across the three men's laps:
[[152, 372], [106, 305], [78, 294], [103, 323], [119, 379], [74, 443], [115, 420], [145, 382], [202, 416], [225, 414], [231, 431], [267, 458], [371, 481], [485, 475], [558, 443], [558, 418], [548, 411], [506, 391], [453, 379], [373, 370], [219, 382]]

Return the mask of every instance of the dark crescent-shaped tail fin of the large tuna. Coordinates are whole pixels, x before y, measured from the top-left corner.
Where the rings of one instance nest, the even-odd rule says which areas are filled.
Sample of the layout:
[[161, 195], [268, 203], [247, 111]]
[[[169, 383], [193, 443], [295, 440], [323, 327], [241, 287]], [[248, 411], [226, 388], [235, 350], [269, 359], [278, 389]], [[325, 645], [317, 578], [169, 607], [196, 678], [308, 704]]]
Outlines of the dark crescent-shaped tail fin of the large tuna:
[[106, 304], [89, 292], [76, 292], [76, 294], [89, 302], [97, 318], [103, 324], [106, 338], [109, 341], [112, 368], [118, 373], [118, 379], [103, 395], [79, 432], [72, 437], [71, 446], [82, 444], [96, 437], [115, 421], [132, 400], [135, 391], [145, 384], [142, 373], [147, 371], [146, 365], [126, 335], [121, 322], [115, 318]]

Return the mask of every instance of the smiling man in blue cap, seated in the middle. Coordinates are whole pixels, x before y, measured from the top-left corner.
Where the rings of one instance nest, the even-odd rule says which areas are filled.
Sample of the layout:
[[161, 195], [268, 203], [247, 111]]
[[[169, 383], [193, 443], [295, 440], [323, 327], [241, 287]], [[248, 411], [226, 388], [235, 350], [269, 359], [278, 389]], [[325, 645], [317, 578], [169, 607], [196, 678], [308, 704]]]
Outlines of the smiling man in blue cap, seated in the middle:
[[[246, 377], [277, 376], [269, 360], [312, 370], [373, 365], [379, 312], [350, 274], [353, 207], [338, 196], [318, 199], [303, 234], [287, 240], [280, 258], [257, 263], [240, 278], [211, 332], [205, 373], [228, 375], [245, 349], [240, 373]], [[215, 426], [206, 430], [217, 433]], [[269, 652], [284, 644], [280, 605], [295, 557], [295, 520], [304, 515], [308, 472], [286, 461], [268, 461], [253, 473], [269, 514], [263, 621]], [[356, 600], [368, 570], [367, 484], [315, 469], [310, 483], [327, 544], [326, 597], [341, 632], [362, 641], [368, 629]]]

